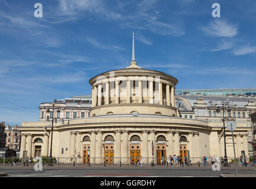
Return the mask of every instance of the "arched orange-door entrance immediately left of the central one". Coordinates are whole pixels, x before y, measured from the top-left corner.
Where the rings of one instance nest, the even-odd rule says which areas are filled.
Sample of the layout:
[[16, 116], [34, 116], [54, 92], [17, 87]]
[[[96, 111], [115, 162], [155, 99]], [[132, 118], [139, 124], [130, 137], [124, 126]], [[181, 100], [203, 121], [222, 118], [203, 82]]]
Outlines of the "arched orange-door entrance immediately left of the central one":
[[105, 139], [104, 139], [104, 158], [105, 158], [105, 164], [113, 164], [114, 138], [111, 135], [105, 136]]

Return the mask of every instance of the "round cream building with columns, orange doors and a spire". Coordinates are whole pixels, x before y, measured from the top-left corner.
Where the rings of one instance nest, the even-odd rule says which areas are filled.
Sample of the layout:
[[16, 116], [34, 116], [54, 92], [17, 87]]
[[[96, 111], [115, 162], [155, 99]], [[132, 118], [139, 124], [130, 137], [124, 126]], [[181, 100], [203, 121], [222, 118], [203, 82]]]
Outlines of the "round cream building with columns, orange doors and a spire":
[[[134, 40], [134, 38], [133, 38]], [[178, 80], [161, 71], [141, 69], [135, 60], [126, 69], [107, 71], [89, 80], [92, 103], [88, 118], [59, 120], [51, 124], [23, 122], [20, 128], [21, 157], [49, 156], [97, 164], [161, 163], [169, 155], [200, 161], [206, 155], [224, 156], [223, 126], [219, 122], [180, 118], [175, 86]], [[189, 104], [189, 103], [188, 103]], [[50, 106], [50, 105], [49, 105]], [[189, 112], [184, 109], [184, 112]], [[247, 155], [250, 128], [238, 124], [235, 136], [237, 155]], [[226, 132], [230, 141], [231, 132]], [[227, 146], [228, 157], [233, 148]]]

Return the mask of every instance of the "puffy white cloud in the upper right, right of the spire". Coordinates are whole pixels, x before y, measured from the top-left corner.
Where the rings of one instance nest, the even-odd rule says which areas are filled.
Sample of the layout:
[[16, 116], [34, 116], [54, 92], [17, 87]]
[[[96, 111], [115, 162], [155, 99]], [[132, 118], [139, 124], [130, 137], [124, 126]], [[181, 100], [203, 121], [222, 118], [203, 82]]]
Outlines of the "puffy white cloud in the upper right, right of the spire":
[[234, 24], [229, 24], [227, 21], [215, 19], [206, 27], [201, 27], [207, 35], [215, 37], [233, 37], [238, 34], [238, 28]]

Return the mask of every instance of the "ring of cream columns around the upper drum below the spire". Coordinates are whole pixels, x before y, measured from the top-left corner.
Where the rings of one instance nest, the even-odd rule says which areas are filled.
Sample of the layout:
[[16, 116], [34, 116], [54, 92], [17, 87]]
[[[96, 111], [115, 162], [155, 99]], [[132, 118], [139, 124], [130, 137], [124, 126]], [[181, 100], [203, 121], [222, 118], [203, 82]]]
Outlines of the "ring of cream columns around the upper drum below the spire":
[[[137, 97], [137, 103], [145, 103], [143, 102], [143, 96], [145, 96], [145, 92], [143, 92], [143, 81], [142, 80], [135, 80], [136, 82], [139, 82], [138, 84], [138, 94], [136, 94]], [[123, 97], [126, 97], [126, 103], [132, 103], [130, 97], [132, 97], [131, 93], [131, 82], [133, 80], [126, 80], [126, 94], [122, 95]], [[165, 94], [166, 94], [166, 104], [167, 106], [173, 106], [175, 107], [175, 87], [172, 86], [169, 83], [162, 83], [162, 82], [155, 82], [155, 86], [157, 86], [156, 83], [158, 83], [158, 89], [155, 89], [155, 93], [158, 93], [158, 99], [154, 99], [154, 92], [153, 92], [153, 80], [147, 81], [149, 86], [147, 88], [147, 95], [149, 96], [149, 103], [157, 103], [159, 105], [164, 105], [163, 102], [163, 84], [165, 86]], [[104, 86], [103, 86], [104, 85]], [[104, 83], [98, 83], [92, 86], [92, 107], [94, 106], [100, 106], [100, 105], [109, 105], [110, 104], [110, 97], [114, 96], [114, 102], [113, 103], [120, 103], [119, 97], [120, 97], [120, 84], [119, 81], [114, 82], [114, 92], [112, 93], [110, 91], [110, 82], [104, 82]], [[104, 94], [102, 92], [103, 87], [105, 88]], [[129, 90], [127, 90], [129, 89]], [[114, 94], [114, 95], [111, 95]], [[122, 93], [123, 94], [123, 93]], [[138, 96], [137, 96], [138, 95]], [[102, 97], [104, 96], [104, 102], [102, 100]], [[98, 97], [98, 98], [97, 98]]]

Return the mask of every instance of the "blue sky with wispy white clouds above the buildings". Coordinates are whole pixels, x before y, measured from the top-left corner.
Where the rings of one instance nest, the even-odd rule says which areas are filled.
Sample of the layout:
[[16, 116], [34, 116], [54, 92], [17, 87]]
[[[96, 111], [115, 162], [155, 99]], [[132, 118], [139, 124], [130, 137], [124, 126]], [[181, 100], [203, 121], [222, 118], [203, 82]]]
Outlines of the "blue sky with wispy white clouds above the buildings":
[[133, 31], [137, 65], [176, 89], [255, 89], [255, 21], [255, 0], [0, 0], [0, 121], [38, 121], [40, 103], [91, 94], [89, 79], [129, 66]]

